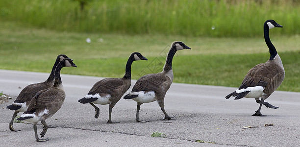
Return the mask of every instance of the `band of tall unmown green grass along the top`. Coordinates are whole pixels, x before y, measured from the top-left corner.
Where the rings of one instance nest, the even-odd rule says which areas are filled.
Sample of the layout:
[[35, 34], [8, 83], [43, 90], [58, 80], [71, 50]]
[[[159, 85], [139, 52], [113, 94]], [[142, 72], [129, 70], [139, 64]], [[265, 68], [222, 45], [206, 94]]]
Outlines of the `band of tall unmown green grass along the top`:
[[90, 0], [82, 12], [76, 0], [0, 0], [0, 21], [97, 33], [260, 36], [274, 19], [295, 35], [299, 14], [299, 0]]

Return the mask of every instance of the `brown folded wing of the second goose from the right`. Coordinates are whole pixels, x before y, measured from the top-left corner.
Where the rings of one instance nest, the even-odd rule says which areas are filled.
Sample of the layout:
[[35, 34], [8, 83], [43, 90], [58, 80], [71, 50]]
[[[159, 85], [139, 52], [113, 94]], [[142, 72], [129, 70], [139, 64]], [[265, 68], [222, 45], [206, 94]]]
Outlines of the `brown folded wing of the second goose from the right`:
[[162, 73], [151, 73], [137, 80], [131, 92], [139, 91], [161, 91], [167, 92], [172, 84], [171, 79]]

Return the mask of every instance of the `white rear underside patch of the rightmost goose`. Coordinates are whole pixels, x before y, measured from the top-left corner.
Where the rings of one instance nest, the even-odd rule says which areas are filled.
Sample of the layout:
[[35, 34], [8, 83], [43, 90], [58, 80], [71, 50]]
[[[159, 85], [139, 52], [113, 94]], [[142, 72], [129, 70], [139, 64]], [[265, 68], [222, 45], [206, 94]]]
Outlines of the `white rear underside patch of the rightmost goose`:
[[240, 94], [246, 91], [250, 91], [245, 98], [260, 98], [262, 97], [262, 95], [264, 94], [264, 87], [262, 86], [255, 86], [255, 87], [247, 87], [246, 89], [240, 89], [240, 90], [236, 90], [235, 92]]

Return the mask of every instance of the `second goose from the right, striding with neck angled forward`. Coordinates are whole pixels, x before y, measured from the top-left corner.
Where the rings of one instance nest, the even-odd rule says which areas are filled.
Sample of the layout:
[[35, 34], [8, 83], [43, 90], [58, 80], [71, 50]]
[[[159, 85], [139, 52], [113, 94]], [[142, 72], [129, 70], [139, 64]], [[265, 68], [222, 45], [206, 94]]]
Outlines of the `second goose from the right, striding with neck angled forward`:
[[157, 101], [160, 109], [165, 114], [164, 120], [170, 120], [175, 116], [169, 116], [164, 108], [165, 95], [173, 82], [172, 61], [177, 50], [191, 49], [182, 42], [173, 42], [172, 47], [167, 55], [164, 69], [161, 73], [151, 73], [142, 76], [137, 80], [132, 91], [127, 94], [124, 99], [133, 99], [137, 101], [136, 122], [148, 122], [139, 119], [139, 111], [141, 104], [145, 102]]

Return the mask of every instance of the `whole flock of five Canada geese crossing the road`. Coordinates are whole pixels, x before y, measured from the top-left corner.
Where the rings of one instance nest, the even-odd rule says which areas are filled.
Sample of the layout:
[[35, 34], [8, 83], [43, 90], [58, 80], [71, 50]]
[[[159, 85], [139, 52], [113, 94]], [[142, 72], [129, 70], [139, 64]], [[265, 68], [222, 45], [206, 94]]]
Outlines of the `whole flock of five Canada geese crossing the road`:
[[[267, 62], [254, 66], [245, 76], [241, 86], [225, 98], [255, 98], [259, 103], [259, 108], [252, 116], [265, 116], [260, 112], [261, 106], [277, 109], [264, 100], [268, 98], [282, 83], [284, 79], [284, 68], [281, 59], [271, 43], [269, 38], [269, 30], [274, 27], [282, 27], [274, 20], [267, 20], [264, 24], [264, 38], [270, 51], [270, 58]], [[139, 110], [143, 103], [157, 101], [162, 112], [165, 115], [164, 120], [170, 120], [175, 116], [169, 116], [164, 109], [164, 98], [166, 92], [173, 82], [172, 61], [178, 50], [191, 49], [182, 42], [173, 42], [168, 52], [166, 63], [161, 73], [151, 73], [142, 76], [137, 80], [131, 92], [125, 95], [125, 99], [133, 99], [137, 101], [136, 122], [148, 122], [139, 119]], [[125, 75], [122, 78], [105, 78], [91, 88], [84, 98], [78, 100], [80, 103], [89, 103], [95, 108], [95, 118], [99, 117], [100, 109], [95, 104], [109, 104], [109, 119], [106, 123], [114, 123], [111, 121], [111, 112], [115, 104], [122, 98], [131, 85], [131, 64], [137, 60], [148, 60], [139, 52], [133, 52], [128, 58], [125, 67]], [[14, 110], [14, 114], [9, 123], [9, 129], [16, 130], [13, 127], [14, 119], [19, 112], [24, 112], [17, 120], [33, 123], [36, 141], [49, 141], [49, 139], [41, 139], [45, 136], [47, 129], [50, 127], [45, 120], [55, 114], [62, 106], [66, 94], [63, 90], [60, 71], [63, 67], [77, 67], [73, 60], [64, 54], [57, 56], [53, 65], [50, 76], [45, 82], [30, 84], [26, 86], [9, 106], [8, 109]], [[259, 98], [261, 98], [259, 100]], [[41, 138], [37, 134], [36, 124], [41, 122], [44, 125], [43, 131], [40, 133]]]

